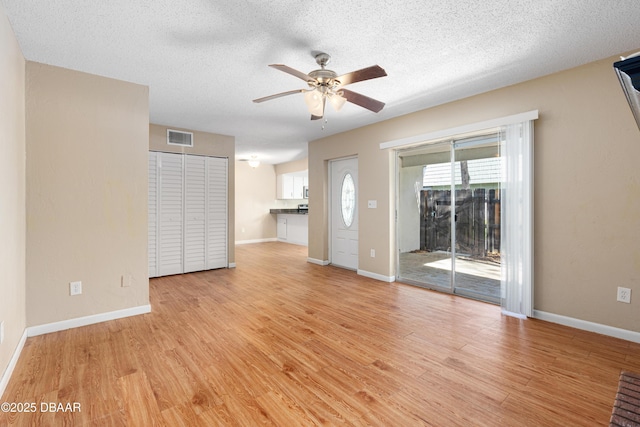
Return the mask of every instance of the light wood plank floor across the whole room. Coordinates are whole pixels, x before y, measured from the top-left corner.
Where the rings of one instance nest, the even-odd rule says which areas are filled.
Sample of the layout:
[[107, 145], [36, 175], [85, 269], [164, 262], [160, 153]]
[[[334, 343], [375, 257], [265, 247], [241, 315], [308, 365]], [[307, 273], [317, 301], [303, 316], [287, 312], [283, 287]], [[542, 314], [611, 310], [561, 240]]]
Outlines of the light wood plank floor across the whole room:
[[[0, 425], [596, 426], [640, 345], [237, 247], [151, 280], [152, 313], [30, 338]], [[41, 402], [81, 412], [41, 412]]]

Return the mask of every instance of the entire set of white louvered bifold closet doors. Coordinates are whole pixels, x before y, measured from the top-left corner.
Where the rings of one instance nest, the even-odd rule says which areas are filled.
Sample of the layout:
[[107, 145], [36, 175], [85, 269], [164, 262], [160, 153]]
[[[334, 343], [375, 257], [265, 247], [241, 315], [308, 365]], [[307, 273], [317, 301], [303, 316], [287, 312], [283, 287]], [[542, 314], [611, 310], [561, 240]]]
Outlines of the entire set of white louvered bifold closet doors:
[[227, 266], [227, 164], [149, 153], [149, 277]]

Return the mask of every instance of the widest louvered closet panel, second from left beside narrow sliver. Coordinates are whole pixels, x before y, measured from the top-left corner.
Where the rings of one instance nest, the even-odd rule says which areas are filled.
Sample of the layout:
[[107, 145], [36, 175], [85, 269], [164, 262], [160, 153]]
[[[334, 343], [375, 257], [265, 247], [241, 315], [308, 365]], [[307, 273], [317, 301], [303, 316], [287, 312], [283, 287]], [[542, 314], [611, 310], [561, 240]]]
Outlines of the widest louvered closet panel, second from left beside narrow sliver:
[[180, 274], [183, 269], [183, 165], [181, 154], [158, 153], [160, 198], [158, 205], [158, 275]]

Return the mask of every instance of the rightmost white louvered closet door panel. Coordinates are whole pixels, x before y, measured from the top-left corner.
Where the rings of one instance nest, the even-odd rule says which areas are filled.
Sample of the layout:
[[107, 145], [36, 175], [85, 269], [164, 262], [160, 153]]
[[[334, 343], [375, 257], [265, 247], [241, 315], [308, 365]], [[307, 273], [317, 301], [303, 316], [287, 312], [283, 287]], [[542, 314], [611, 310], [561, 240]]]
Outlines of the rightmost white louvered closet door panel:
[[207, 158], [207, 269], [227, 267], [227, 162]]

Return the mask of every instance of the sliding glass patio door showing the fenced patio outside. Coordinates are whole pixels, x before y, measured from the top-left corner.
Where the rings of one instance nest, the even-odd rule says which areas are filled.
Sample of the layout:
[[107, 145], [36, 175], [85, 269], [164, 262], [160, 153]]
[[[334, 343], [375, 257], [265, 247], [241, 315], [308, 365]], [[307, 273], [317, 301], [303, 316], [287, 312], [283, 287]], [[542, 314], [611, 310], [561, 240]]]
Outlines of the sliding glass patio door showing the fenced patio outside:
[[500, 302], [498, 134], [398, 152], [398, 279]]

